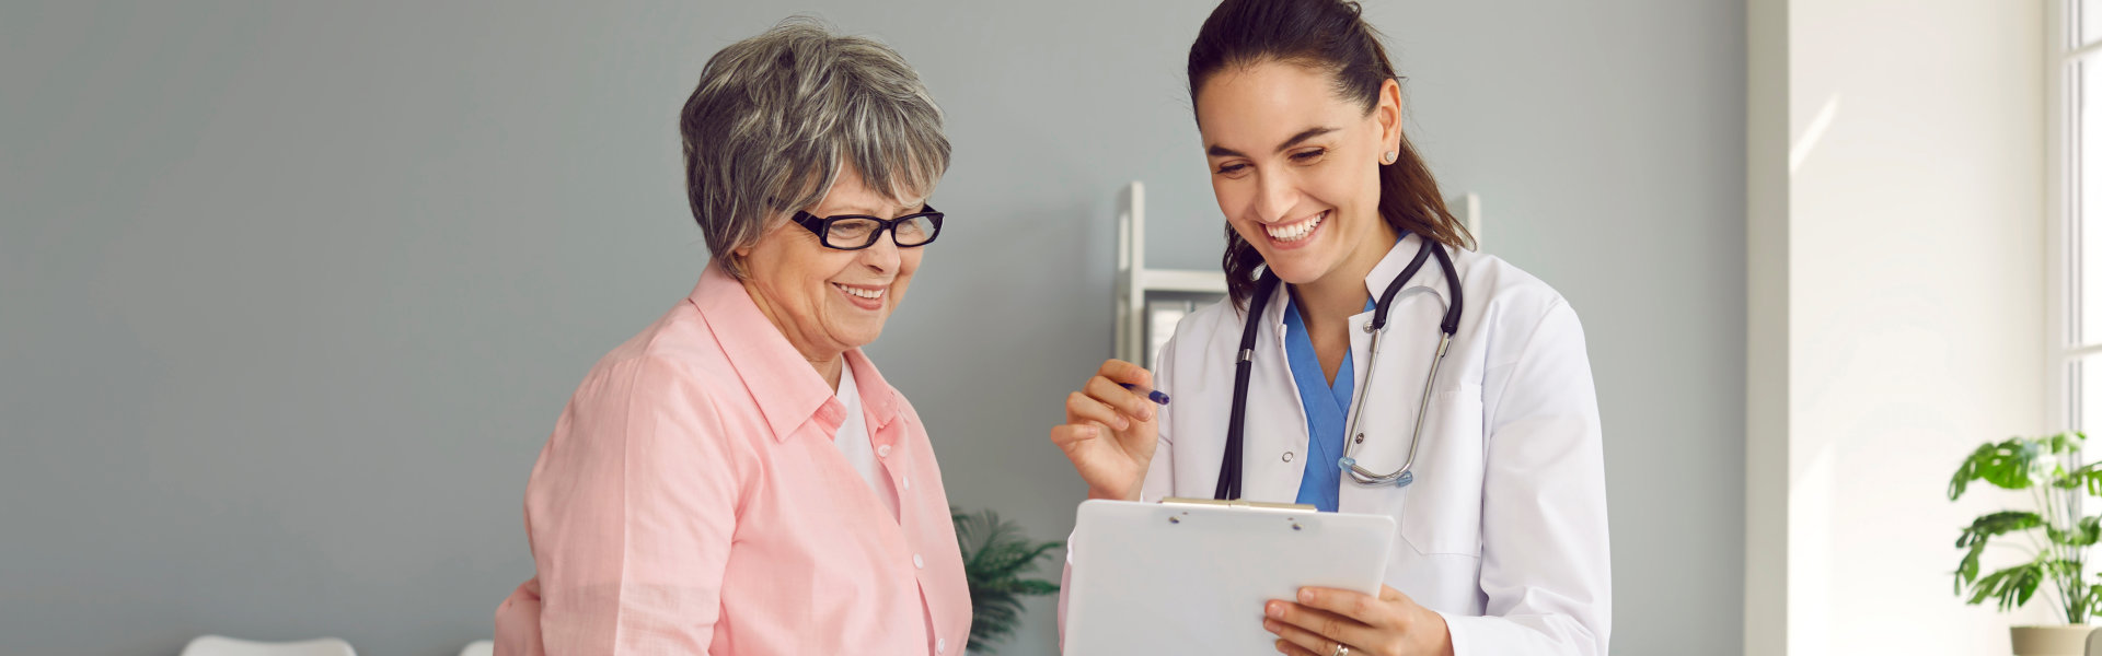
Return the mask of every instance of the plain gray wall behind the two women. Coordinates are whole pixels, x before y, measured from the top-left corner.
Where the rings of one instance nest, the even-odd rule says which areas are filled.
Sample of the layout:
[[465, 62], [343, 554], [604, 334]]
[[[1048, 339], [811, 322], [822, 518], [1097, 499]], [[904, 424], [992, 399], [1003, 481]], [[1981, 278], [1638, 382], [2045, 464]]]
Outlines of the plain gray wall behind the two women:
[[[1062, 538], [1045, 439], [1110, 351], [1112, 212], [1213, 267], [1188, 2], [0, 6], [0, 652], [198, 633], [450, 654], [532, 574], [519, 498], [704, 250], [675, 111], [795, 11], [950, 111], [954, 231], [872, 347], [952, 503]], [[1743, 4], [1375, 2], [1490, 252], [1585, 317], [1619, 654], [1740, 641]], [[1049, 654], [1051, 603], [1011, 654]]]

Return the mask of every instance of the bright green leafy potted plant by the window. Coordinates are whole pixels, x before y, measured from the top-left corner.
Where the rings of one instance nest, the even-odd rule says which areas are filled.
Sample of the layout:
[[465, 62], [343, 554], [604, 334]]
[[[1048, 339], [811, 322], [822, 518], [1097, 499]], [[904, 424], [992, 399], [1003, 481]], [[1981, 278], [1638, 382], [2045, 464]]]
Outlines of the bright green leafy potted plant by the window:
[[[1957, 500], [1972, 481], [2001, 490], [2028, 490], [2037, 511], [1999, 511], [1972, 521], [1957, 536], [1963, 559], [1957, 563], [1955, 591], [1965, 603], [1993, 599], [2001, 612], [2028, 603], [2037, 589], [2047, 589], [2058, 627], [2014, 627], [2016, 656], [2081, 656], [2087, 645], [2087, 620], [2102, 610], [2102, 582], [2087, 578], [2087, 551], [2102, 538], [2102, 517], [2081, 513], [2081, 500], [2102, 494], [2102, 465], [2079, 465], [2087, 435], [2058, 433], [2047, 437], [2012, 437], [1978, 446], [1957, 475], [1949, 479], [1949, 500]], [[2016, 566], [1978, 576], [1986, 545], [2024, 553]]]

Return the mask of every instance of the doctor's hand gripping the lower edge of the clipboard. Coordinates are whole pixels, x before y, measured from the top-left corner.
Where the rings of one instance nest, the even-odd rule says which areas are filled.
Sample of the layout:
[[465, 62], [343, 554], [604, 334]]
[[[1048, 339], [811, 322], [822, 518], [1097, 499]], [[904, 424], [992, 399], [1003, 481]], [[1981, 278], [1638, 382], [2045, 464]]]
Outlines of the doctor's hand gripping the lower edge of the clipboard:
[[1278, 654], [1452, 656], [1444, 616], [1392, 587], [1379, 597], [1339, 589], [1299, 589], [1299, 601], [1263, 603], [1263, 629], [1278, 635]]

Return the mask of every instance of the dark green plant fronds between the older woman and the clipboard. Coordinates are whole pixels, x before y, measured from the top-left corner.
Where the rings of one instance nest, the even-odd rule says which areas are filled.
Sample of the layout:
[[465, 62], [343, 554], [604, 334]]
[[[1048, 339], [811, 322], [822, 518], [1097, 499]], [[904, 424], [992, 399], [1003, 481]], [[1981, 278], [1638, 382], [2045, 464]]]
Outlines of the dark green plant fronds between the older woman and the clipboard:
[[1022, 599], [1053, 595], [1057, 582], [1022, 578], [1062, 542], [1032, 542], [1022, 526], [992, 511], [952, 513], [956, 547], [963, 549], [963, 578], [971, 587], [971, 641], [965, 650], [992, 654], [1022, 624]]

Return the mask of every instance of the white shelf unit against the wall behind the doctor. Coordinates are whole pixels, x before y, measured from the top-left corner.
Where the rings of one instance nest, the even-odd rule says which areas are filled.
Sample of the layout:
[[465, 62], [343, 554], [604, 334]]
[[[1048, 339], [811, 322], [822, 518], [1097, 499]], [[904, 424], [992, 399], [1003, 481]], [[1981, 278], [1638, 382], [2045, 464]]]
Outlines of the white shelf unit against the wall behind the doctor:
[[[1446, 200], [1459, 214], [1467, 231], [1482, 250], [1482, 198], [1461, 193]], [[1146, 183], [1133, 181], [1118, 193], [1116, 208], [1116, 360], [1137, 362], [1152, 368], [1154, 345], [1167, 341], [1165, 334], [1152, 339], [1146, 330], [1150, 313], [1148, 294], [1175, 296], [1225, 296], [1225, 273], [1148, 269], [1146, 267]], [[1156, 324], [1158, 328], [1158, 324]]]

